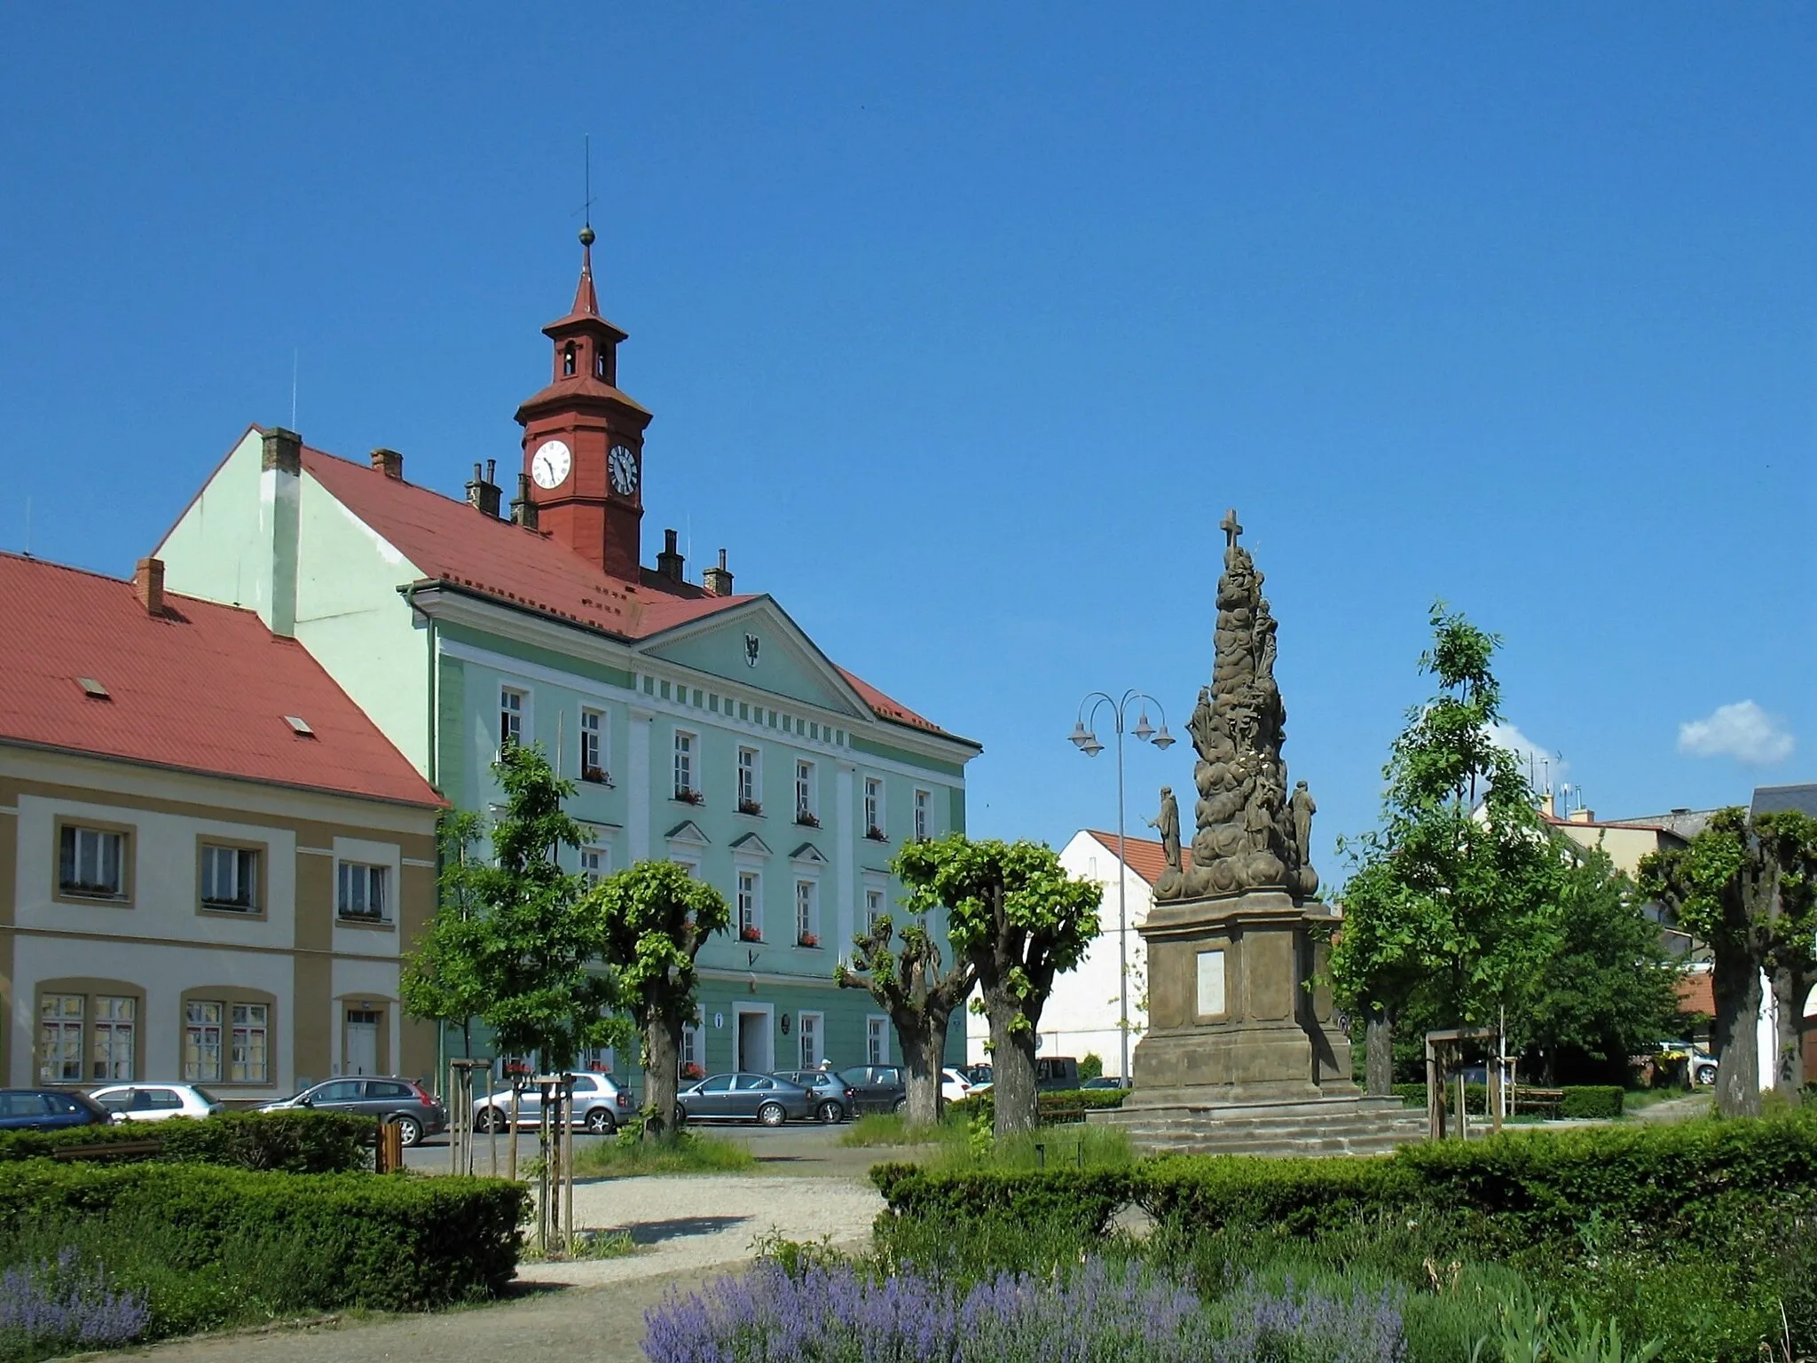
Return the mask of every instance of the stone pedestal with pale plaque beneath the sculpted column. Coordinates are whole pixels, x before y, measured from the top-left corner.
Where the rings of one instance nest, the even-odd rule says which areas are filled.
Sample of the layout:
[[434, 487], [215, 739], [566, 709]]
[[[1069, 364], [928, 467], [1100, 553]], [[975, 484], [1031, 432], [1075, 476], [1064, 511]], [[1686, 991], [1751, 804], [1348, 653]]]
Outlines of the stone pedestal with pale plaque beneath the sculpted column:
[[1157, 903], [1130, 1107], [1354, 1099], [1350, 1038], [1330, 990], [1308, 989], [1332, 921], [1281, 890]]

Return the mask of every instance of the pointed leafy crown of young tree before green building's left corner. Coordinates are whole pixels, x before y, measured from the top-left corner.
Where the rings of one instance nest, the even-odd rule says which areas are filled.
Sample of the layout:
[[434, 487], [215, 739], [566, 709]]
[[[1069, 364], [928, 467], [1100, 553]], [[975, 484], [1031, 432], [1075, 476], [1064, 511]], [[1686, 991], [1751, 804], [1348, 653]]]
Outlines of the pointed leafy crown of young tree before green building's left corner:
[[472, 943], [485, 990], [480, 1018], [505, 1054], [536, 1052], [545, 1070], [569, 1069], [581, 1050], [625, 1034], [614, 981], [600, 965], [598, 914], [581, 907], [587, 881], [556, 861], [560, 849], [581, 845], [580, 825], [561, 807], [574, 783], [554, 774], [540, 747], [518, 743], [492, 771], [505, 791], [491, 827], [492, 861], [465, 858], [483, 929]]

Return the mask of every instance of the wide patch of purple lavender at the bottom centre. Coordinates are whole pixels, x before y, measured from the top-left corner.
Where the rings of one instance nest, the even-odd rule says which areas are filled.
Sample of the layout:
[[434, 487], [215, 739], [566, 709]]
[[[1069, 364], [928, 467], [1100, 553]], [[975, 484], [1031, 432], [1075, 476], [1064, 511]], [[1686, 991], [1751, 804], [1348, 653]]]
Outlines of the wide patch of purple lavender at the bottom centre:
[[1001, 1274], [970, 1288], [850, 1265], [760, 1263], [645, 1316], [650, 1363], [1401, 1363], [1395, 1303], [1246, 1290], [1223, 1308], [1136, 1265]]

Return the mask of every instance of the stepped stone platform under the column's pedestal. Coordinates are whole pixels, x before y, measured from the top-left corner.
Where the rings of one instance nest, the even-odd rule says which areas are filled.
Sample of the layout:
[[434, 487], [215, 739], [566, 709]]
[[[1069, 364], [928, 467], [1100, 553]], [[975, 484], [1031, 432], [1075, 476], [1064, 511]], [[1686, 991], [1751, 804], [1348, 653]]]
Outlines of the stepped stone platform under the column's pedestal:
[[1128, 1132], [1139, 1154], [1386, 1154], [1426, 1139], [1426, 1114], [1399, 1098], [1234, 1103], [1161, 1090], [1087, 1119]]

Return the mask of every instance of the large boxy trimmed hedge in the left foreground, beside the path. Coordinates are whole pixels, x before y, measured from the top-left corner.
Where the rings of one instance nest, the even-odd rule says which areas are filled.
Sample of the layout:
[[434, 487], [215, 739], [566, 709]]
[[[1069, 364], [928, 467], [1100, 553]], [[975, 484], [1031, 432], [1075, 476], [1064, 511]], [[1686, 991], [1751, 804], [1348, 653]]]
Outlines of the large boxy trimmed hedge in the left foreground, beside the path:
[[91, 1241], [156, 1227], [180, 1274], [254, 1254], [282, 1263], [313, 1308], [423, 1310], [511, 1281], [527, 1201], [503, 1179], [22, 1159], [0, 1167], [0, 1243], [71, 1221]]

